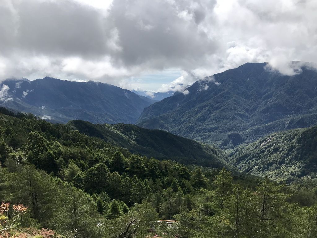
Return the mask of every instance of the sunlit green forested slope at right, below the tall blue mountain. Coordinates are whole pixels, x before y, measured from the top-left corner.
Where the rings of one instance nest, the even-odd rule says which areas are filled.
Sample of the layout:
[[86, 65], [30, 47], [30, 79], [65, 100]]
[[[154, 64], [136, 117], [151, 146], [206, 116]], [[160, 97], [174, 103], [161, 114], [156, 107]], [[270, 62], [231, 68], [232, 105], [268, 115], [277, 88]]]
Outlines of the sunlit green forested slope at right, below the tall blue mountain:
[[241, 172], [276, 180], [317, 175], [317, 127], [292, 129], [238, 146], [230, 157]]

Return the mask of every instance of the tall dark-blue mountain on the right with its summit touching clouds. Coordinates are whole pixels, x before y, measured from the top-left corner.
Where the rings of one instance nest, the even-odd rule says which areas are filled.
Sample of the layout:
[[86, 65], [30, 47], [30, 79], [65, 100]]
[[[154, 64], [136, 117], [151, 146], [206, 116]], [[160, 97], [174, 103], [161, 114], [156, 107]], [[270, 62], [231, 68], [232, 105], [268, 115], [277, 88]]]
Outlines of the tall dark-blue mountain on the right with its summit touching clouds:
[[184, 93], [144, 109], [137, 125], [224, 149], [316, 125], [316, 70], [303, 66], [299, 74], [286, 76], [266, 65], [246, 63], [198, 80]]

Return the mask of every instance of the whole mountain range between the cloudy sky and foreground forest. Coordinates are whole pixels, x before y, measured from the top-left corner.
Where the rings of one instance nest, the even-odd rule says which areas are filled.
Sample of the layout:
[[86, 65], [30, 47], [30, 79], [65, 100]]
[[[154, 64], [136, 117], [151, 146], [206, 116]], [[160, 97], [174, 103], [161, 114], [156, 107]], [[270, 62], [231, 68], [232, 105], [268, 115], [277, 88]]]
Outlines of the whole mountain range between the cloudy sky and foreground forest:
[[50, 77], [5, 80], [0, 100], [135, 154], [293, 181], [317, 174], [317, 72], [305, 65], [286, 76], [246, 63], [159, 102]]

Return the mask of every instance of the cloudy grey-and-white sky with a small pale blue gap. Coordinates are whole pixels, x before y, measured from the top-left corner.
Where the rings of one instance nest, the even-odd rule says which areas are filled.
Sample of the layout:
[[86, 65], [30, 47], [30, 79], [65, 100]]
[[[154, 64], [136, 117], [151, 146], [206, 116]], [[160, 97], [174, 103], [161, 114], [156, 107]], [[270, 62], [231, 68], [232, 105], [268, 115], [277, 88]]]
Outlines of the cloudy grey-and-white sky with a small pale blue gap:
[[0, 80], [166, 92], [247, 62], [293, 75], [289, 62], [317, 62], [316, 12], [316, 0], [0, 0]]

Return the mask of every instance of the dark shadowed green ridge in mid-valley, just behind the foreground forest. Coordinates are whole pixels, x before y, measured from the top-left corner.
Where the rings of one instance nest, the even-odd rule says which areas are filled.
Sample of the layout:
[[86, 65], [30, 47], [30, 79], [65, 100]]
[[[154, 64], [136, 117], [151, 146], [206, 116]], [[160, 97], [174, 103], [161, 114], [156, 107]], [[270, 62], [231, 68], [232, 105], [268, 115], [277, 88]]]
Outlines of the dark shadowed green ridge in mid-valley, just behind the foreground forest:
[[88, 136], [128, 149], [131, 153], [171, 159], [183, 164], [198, 164], [213, 168], [228, 166], [228, 156], [214, 146], [175, 136], [162, 130], [150, 130], [131, 124], [92, 124], [81, 120], [68, 122], [73, 129]]

